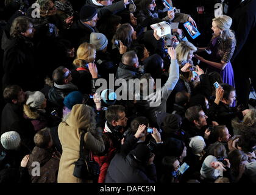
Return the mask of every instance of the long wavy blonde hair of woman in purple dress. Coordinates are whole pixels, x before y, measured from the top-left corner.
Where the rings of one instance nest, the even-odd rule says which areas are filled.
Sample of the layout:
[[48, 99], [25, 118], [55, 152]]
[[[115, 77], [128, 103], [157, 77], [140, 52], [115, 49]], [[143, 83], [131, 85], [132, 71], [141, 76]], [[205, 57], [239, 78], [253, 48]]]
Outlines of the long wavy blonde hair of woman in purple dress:
[[219, 30], [222, 30], [220, 36], [223, 40], [231, 39], [236, 43], [235, 34], [233, 33], [233, 30], [230, 30], [232, 18], [222, 15], [220, 17], [213, 18], [213, 21], [215, 22], [216, 27], [218, 27]]

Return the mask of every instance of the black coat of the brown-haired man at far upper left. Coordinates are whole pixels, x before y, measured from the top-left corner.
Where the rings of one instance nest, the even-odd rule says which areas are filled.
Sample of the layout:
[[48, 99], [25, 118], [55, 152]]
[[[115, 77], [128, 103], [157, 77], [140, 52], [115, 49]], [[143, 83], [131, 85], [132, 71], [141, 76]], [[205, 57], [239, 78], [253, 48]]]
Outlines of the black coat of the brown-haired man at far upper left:
[[37, 71], [34, 62], [34, 45], [26, 37], [12, 39], [5, 31], [2, 36], [4, 49], [2, 87], [19, 85], [24, 91], [36, 91], [38, 86]]

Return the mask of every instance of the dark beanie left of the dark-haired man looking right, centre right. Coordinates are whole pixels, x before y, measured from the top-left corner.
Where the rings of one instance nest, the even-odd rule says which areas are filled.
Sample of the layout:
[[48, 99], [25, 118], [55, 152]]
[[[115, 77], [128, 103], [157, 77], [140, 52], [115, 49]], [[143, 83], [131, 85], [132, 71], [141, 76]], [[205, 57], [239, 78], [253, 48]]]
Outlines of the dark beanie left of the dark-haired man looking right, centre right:
[[174, 133], [180, 129], [181, 118], [179, 115], [170, 113], [160, 113], [157, 115], [157, 124], [163, 132]]

